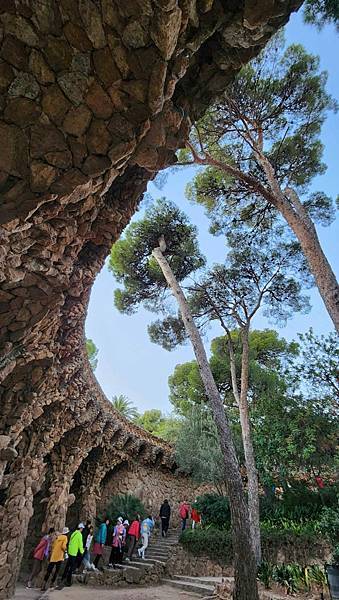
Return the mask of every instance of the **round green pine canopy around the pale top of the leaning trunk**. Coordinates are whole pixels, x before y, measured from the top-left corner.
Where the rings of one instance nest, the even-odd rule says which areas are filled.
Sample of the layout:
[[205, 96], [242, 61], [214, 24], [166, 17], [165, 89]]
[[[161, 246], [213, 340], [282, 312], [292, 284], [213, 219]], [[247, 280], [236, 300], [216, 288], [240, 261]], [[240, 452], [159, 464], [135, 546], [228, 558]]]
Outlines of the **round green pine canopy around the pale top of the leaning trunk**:
[[168, 298], [168, 287], [152, 250], [166, 239], [166, 257], [178, 281], [204, 265], [197, 243], [197, 230], [186, 215], [166, 199], [158, 200], [145, 217], [132, 223], [111, 251], [109, 268], [123, 289], [115, 290], [115, 305], [130, 314], [143, 303], [158, 311]]

